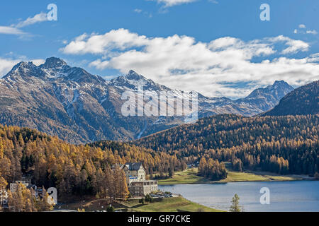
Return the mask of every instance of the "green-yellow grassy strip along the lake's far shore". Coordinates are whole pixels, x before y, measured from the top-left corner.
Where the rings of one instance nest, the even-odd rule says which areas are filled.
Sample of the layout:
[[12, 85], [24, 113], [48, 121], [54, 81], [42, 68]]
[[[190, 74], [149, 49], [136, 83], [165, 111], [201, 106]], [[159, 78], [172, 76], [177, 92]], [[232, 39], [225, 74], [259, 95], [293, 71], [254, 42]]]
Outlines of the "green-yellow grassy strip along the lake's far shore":
[[228, 169], [228, 176], [220, 181], [212, 182], [197, 175], [198, 168], [185, 169], [182, 172], [175, 172], [174, 176], [169, 179], [158, 180], [159, 185], [173, 184], [219, 184], [229, 182], [285, 182], [311, 179], [306, 175], [279, 175], [270, 172], [235, 172]]

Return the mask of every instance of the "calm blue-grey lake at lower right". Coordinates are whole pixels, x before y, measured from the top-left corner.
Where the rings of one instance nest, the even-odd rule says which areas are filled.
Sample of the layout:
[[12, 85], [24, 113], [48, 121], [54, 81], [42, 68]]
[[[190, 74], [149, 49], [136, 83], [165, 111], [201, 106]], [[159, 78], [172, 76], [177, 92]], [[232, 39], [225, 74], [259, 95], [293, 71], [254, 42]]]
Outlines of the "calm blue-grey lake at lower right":
[[[260, 204], [262, 187], [269, 188], [270, 204]], [[233, 182], [226, 184], [162, 185], [159, 189], [181, 194], [204, 206], [228, 210], [237, 193], [245, 212], [315, 211], [319, 212], [319, 181]]]

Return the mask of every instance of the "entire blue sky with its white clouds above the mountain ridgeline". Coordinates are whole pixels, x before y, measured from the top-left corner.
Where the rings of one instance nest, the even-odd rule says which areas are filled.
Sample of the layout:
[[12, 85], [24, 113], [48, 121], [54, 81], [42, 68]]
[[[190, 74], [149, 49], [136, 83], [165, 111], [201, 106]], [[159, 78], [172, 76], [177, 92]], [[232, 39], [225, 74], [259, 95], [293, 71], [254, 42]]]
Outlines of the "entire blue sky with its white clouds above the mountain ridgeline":
[[[270, 21], [259, 18], [264, 3]], [[48, 4], [57, 5], [57, 21], [43, 17]], [[40, 64], [55, 56], [106, 79], [134, 69], [169, 87], [209, 96], [242, 97], [275, 80], [298, 86], [319, 78], [317, 0], [0, 5], [0, 76], [18, 61]]]

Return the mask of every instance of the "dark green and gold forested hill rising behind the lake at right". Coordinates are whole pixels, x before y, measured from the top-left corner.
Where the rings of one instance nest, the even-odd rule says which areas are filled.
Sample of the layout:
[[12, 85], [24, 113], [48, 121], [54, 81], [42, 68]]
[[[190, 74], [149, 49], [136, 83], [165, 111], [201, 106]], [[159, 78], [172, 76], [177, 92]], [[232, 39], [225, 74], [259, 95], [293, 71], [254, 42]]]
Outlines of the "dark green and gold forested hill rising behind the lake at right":
[[318, 117], [220, 114], [155, 133], [134, 144], [189, 162], [206, 157], [232, 161], [238, 170], [314, 174], [319, 167]]

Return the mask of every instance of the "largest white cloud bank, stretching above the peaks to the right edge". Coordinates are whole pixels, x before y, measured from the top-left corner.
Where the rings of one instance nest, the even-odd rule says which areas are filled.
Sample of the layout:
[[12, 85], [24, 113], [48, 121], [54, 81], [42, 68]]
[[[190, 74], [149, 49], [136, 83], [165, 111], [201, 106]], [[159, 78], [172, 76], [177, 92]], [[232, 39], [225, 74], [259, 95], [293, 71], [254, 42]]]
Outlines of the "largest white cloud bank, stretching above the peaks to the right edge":
[[[60, 50], [65, 54], [94, 54], [96, 59], [90, 66], [96, 69], [118, 69], [121, 73], [133, 69], [171, 88], [196, 90], [208, 96], [242, 97], [275, 80], [302, 85], [318, 79], [318, 55], [285, 57], [308, 49], [308, 43], [283, 35], [248, 42], [235, 37], [196, 42], [189, 36], [146, 37], [119, 29], [104, 35], [83, 34]], [[278, 57], [269, 60], [275, 53]], [[264, 60], [254, 62], [254, 57]], [[238, 87], [236, 83], [249, 83], [250, 87]]]

